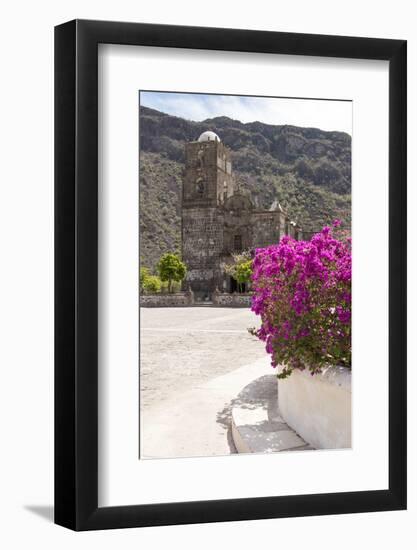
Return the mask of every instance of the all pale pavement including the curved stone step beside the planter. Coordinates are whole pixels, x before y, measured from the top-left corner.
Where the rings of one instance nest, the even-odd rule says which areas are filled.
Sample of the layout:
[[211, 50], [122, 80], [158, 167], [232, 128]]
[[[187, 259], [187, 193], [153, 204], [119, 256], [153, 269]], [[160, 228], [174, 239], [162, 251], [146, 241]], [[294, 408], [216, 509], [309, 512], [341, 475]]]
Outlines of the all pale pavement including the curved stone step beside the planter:
[[141, 458], [307, 448], [278, 416], [256, 323], [242, 309], [141, 310]]

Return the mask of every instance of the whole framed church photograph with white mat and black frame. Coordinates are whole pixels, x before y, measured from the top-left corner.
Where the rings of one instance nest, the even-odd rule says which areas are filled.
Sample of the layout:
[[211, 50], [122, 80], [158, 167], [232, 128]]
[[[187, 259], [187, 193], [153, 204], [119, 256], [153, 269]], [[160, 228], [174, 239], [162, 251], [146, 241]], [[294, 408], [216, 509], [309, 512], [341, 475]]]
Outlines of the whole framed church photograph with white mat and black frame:
[[55, 522], [406, 507], [406, 42], [55, 29]]

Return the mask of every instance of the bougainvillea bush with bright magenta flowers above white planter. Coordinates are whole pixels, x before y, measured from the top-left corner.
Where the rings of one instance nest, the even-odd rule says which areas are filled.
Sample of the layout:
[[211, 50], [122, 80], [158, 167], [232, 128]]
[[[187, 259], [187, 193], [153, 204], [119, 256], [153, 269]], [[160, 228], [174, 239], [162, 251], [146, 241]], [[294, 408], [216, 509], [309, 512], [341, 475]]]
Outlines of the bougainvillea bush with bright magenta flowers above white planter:
[[252, 311], [260, 315], [257, 336], [265, 341], [279, 378], [294, 369], [321, 372], [329, 365], [351, 367], [350, 238], [324, 227], [310, 241], [285, 236], [256, 250]]

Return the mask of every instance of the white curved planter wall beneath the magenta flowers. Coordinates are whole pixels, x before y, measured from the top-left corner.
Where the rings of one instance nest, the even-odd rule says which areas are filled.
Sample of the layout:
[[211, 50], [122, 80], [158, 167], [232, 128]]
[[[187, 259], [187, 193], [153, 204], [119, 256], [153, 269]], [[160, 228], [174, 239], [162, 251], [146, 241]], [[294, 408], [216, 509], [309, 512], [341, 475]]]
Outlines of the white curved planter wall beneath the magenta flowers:
[[351, 370], [329, 367], [311, 376], [295, 370], [278, 380], [282, 418], [316, 449], [351, 447]]

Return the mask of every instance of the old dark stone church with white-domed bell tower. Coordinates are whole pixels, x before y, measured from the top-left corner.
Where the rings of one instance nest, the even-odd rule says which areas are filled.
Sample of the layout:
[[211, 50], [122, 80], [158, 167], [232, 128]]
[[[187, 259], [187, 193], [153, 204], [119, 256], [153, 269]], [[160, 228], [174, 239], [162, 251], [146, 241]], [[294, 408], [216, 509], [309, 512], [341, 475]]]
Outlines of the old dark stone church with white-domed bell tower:
[[231, 151], [214, 132], [203, 132], [185, 145], [182, 190], [182, 259], [187, 265], [185, 287], [197, 299], [237, 291], [222, 265], [232, 253], [277, 243], [282, 235], [301, 238], [301, 229], [278, 204], [256, 210], [236, 186]]

